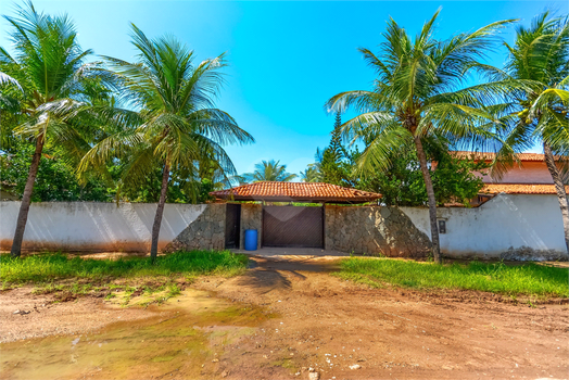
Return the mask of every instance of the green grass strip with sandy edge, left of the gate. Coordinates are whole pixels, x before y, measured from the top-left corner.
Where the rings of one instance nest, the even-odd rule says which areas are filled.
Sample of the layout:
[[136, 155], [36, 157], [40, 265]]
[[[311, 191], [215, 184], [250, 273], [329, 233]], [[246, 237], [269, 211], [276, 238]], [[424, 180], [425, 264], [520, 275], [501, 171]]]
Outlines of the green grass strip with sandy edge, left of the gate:
[[229, 251], [176, 252], [149, 257], [93, 259], [46, 253], [22, 258], [0, 256], [2, 289], [33, 283], [34, 293], [53, 293], [58, 302], [83, 295], [116, 300], [123, 306], [131, 300], [138, 304], [163, 303], [175, 297], [199, 276], [231, 277], [242, 274], [245, 255]]

